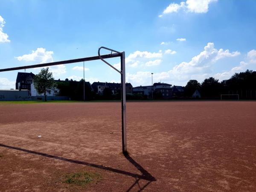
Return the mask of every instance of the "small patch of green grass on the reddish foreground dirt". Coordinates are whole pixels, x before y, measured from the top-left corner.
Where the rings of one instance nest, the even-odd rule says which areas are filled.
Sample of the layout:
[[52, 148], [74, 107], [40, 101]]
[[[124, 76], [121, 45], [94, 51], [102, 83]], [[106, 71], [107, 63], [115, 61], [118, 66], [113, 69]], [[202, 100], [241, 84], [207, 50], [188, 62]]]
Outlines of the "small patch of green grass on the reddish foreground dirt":
[[85, 186], [89, 183], [95, 183], [102, 179], [98, 173], [78, 172], [66, 175], [64, 183]]

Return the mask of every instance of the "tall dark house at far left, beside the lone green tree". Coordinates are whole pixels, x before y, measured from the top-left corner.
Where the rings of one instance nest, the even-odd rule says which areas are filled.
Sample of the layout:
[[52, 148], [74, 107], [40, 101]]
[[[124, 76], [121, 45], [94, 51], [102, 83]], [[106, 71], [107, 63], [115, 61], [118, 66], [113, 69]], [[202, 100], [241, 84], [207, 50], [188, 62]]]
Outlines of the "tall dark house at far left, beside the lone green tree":
[[31, 91], [31, 84], [35, 74], [18, 72], [16, 78], [16, 89]]

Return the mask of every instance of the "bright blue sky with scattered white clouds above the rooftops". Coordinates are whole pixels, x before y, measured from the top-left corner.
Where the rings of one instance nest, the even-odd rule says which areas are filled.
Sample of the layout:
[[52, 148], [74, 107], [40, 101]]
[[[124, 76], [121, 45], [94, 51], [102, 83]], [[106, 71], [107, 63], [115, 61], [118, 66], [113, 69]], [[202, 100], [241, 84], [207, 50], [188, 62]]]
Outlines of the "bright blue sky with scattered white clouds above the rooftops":
[[[94, 56], [105, 46], [125, 51], [133, 86], [150, 85], [151, 73], [154, 82], [183, 86], [221, 81], [256, 70], [255, 10], [255, 0], [1, 0], [0, 68]], [[109, 62], [119, 67], [119, 59]], [[55, 79], [79, 80], [82, 66], [50, 70]], [[91, 83], [120, 82], [102, 61], [85, 67]], [[15, 88], [17, 72], [0, 73], [0, 89]]]

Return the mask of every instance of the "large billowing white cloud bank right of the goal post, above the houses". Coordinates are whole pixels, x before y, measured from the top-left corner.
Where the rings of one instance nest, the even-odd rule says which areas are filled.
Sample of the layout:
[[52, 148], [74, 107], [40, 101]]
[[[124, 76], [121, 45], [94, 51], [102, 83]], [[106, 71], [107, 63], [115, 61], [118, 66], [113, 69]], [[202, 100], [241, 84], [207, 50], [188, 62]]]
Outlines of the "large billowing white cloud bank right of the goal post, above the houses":
[[[239, 55], [238, 51], [230, 52], [228, 49], [215, 49], [214, 43], [208, 43], [202, 52], [195, 55], [191, 61], [183, 61], [180, 64], [175, 65], [171, 70], [167, 72], [154, 73], [154, 82], [165, 81], [171, 83], [175, 81], [181, 85], [185, 85], [189, 79], [197, 79], [203, 81], [205, 78], [212, 76], [211, 69], [213, 64], [221, 58], [234, 57]], [[241, 63], [243, 68], [246, 64]], [[234, 68], [234, 70], [241, 70], [241, 68]], [[151, 82], [151, 72], [139, 71], [137, 73], [127, 74], [128, 81], [131, 81], [135, 86], [141, 84], [149, 84]]]

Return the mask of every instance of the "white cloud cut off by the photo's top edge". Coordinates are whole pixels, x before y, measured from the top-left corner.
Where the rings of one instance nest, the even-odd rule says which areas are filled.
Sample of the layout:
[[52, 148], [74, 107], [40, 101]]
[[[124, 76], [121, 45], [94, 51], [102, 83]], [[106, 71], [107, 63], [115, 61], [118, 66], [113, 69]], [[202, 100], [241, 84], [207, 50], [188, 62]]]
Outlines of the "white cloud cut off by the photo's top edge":
[[169, 4], [169, 6], [166, 7], [166, 9], [163, 10], [163, 13], [158, 17], [163, 17], [163, 15], [165, 14], [178, 12], [180, 9], [192, 13], [207, 13], [209, 9], [209, 4], [216, 1], [217, 0], [187, 0], [186, 3], [171, 3]]

